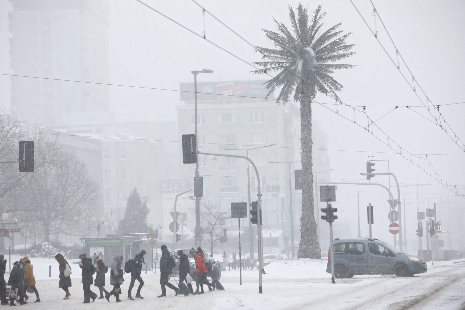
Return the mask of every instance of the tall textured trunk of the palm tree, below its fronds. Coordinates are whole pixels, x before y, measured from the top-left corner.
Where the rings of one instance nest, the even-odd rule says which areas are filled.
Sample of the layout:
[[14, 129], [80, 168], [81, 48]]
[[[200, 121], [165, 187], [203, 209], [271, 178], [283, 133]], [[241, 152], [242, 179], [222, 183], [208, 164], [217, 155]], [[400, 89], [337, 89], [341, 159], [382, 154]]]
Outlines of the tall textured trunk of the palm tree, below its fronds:
[[300, 99], [300, 143], [302, 146], [302, 218], [300, 219], [299, 258], [320, 258], [313, 204], [312, 101], [310, 83], [304, 83]]

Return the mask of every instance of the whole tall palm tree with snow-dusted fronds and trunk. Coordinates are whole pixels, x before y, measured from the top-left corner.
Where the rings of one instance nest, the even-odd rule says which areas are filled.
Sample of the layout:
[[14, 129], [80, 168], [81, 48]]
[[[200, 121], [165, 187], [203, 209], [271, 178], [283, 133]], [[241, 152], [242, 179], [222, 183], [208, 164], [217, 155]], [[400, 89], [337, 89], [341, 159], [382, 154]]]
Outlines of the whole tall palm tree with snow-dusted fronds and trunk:
[[269, 91], [266, 98], [281, 87], [277, 104], [286, 104], [291, 98], [300, 101], [303, 176], [299, 258], [320, 258], [312, 191], [312, 99], [315, 99], [317, 92], [321, 92], [340, 101], [336, 92], [340, 92], [343, 86], [331, 74], [335, 69], [350, 69], [355, 65], [334, 62], [355, 54], [351, 52], [355, 45], [345, 44], [352, 33], [343, 34], [344, 30], [338, 30], [343, 22], [321, 32], [324, 25], [322, 20], [326, 15], [326, 12], [321, 13], [321, 6], [315, 10], [312, 20], [309, 20], [302, 3], [297, 7], [297, 14], [296, 20], [294, 10], [289, 7], [293, 34], [274, 18], [279, 32], [263, 30], [275, 48], [255, 47], [255, 52], [263, 54], [263, 61], [254, 63], [262, 69], [253, 72], [277, 73], [266, 82]]

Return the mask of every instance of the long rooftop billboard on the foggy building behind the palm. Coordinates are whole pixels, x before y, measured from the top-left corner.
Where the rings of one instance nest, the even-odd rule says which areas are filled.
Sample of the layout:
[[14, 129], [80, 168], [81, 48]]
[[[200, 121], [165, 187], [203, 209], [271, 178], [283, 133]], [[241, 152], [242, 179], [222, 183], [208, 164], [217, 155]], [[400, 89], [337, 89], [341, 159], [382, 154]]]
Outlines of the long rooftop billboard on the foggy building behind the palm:
[[[263, 100], [268, 93], [265, 82], [266, 80], [197, 82], [197, 102], [230, 102], [253, 98]], [[194, 101], [194, 83], [180, 83], [179, 89], [181, 102]]]

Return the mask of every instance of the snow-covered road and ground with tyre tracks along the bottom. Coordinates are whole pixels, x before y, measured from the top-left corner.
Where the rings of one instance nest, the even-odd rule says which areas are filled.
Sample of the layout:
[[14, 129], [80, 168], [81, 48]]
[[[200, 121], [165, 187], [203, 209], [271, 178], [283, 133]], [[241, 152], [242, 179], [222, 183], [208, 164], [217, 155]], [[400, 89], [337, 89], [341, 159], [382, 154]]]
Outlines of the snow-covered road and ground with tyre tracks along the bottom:
[[[457, 263], [458, 261], [456, 261]], [[34, 262], [33, 262], [34, 264]], [[34, 271], [46, 267], [48, 263], [38, 261]], [[23, 308], [34, 309], [464, 309], [465, 261], [438, 262], [428, 264], [428, 272], [415, 277], [398, 278], [394, 276], [355, 276], [352, 279], [337, 280], [330, 283], [325, 272], [324, 260], [299, 260], [277, 262], [266, 266], [267, 275], [263, 276], [263, 294], [258, 294], [258, 271], [244, 270], [243, 285], [239, 285], [239, 271], [223, 273], [221, 283], [225, 291], [206, 292], [200, 296], [175, 297], [173, 290], [167, 289], [168, 297], [157, 298], [160, 294], [159, 274], [142, 274], [146, 285], [140, 301], [126, 300], [129, 277], [122, 285], [124, 302], [111, 303], [97, 299], [93, 304], [82, 304], [83, 293], [79, 275], [73, 274], [73, 287], [70, 300], [62, 300], [64, 292], [58, 289], [56, 270], [52, 265], [52, 278], [38, 272], [37, 288], [42, 302], [30, 303]], [[75, 269], [74, 269], [75, 270]], [[76, 273], [80, 270], [78, 269]], [[171, 281], [173, 284], [174, 281]], [[137, 286], [137, 284], [136, 284]], [[106, 286], [109, 290], [110, 285]], [[92, 290], [97, 292], [96, 287]], [[136, 288], [133, 289], [133, 295]], [[22, 309], [22, 308], [21, 308]]]

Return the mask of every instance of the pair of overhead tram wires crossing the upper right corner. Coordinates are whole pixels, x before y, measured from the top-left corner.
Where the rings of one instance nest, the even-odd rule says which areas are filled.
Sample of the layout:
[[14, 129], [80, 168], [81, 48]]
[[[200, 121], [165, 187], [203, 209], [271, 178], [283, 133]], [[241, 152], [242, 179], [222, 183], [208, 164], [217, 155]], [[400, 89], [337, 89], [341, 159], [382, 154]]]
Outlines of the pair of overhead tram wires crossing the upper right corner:
[[[412, 89], [412, 91], [415, 93], [415, 95], [417, 96], [417, 98], [420, 100], [420, 102], [423, 104], [423, 106], [428, 110], [429, 114], [431, 115], [431, 117], [435, 120], [435, 122], [433, 122], [433, 124], [435, 125], [438, 125], [444, 132], [447, 136], [449, 136], [449, 138], [455, 142], [455, 144], [462, 150], [465, 152], [465, 143], [458, 137], [458, 135], [454, 132], [454, 130], [452, 129], [452, 127], [449, 125], [449, 123], [447, 123], [447, 121], [445, 120], [444, 116], [442, 116], [442, 113], [439, 111], [439, 106], [435, 106], [433, 105], [432, 101], [429, 99], [429, 97], [426, 95], [425, 91], [423, 90], [423, 88], [419, 85], [418, 81], [417, 81], [417, 85], [419, 86], [421, 92], [423, 92], [423, 94], [425, 95], [426, 97], [426, 100], [427, 102], [430, 102], [431, 103], [431, 106], [432, 108], [437, 111], [439, 113], [439, 122], [438, 122], [438, 119], [433, 116], [433, 114], [431, 113], [430, 109], [429, 109], [429, 105], [426, 106], [423, 102], [423, 100], [419, 97], [419, 94], [416, 92], [416, 89], [415, 89], [415, 77], [412, 73], [412, 71], [410, 70], [410, 68], [408, 67], [407, 63], [405, 62], [405, 59], [402, 57], [401, 53], [399, 52], [399, 49], [397, 48], [397, 46], [395, 45], [394, 43], [394, 40], [392, 40], [392, 37], [391, 37], [391, 34], [389, 33], [389, 31], [387, 30], [383, 20], [381, 19], [381, 17], [379, 16], [379, 13], [378, 13], [378, 10], [376, 10], [376, 7], [374, 6], [372, 0], [370, 0], [371, 4], [372, 4], [372, 7], [373, 7], [373, 12], [376, 14], [376, 16], [379, 17], [379, 20], [381, 21], [381, 24], [382, 26], [384, 27], [389, 39], [391, 40], [392, 42], [392, 45], [395, 47], [396, 49], [396, 53], [399, 54], [400, 56], [400, 59], [402, 60], [402, 62], [404, 63], [405, 67], [407, 68], [408, 72], [410, 73], [410, 75], [412, 76], [412, 83], [413, 83], [413, 86], [410, 84], [410, 82], [407, 80], [407, 78], [405, 77], [404, 73], [402, 73], [402, 71], [400, 71], [400, 67], [398, 64], [396, 64], [394, 62], [394, 60], [392, 59], [391, 55], [389, 55], [389, 53], [387, 52], [387, 50], [385, 49], [385, 47], [383, 46], [383, 44], [381, 43], [381, 41], [379, 41], [379, 38], [377, 36], [377, 32], [373, 32], [372, 28], [370, 27], [370, 25], [368, 25], [368, 23], [366, 22], [365, 18], [363, 17], [363, 15], [360, 13], [359, 9], [355, 6], [355, 4], [353, 3], [352, 0], [350, 0], [350, 2], [352, 3], [352, 6], [355, 8], [355, 10], [357, 11], [357, 13], [359, 13], [360, 17], [362, 18], [362, 20], [365, 22], [365, 25], [368, 27], [368, 29], [370, 30], [370, 32], [373, 34], [373, 36], [375, 37], [375, 39], [378, 41], [379, 45], [383, 48], [384, 52], [386, 53], [386, 55], [389, 57], [389, 59], [391, 60], [392, 64], [394, 66], [396, 66], [396, 68], [398, 69], [399, 73], [402, 75], [402, 77], [405, 79], [405, 82], [407, 82], [407, 84], [410, 86], [410, 88]], [[442, 120], [444, 122], [445, 125], [447, 125], [449, 127], [449, 129], [452, 131], [452, 133], [454, 134], [454, 137], [455, 139], [447, 132], [447, 128], [445, 128], [445, 126], [443, 126], [441, 124], [441, 117], [442, 117]], [[463, 145], [463, 146], [460, 146], [458, 144], [458, 141], [460, 141], [460, 143]]]

